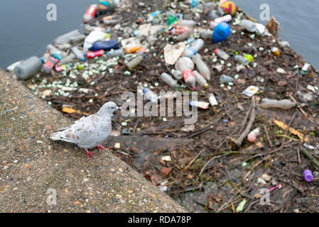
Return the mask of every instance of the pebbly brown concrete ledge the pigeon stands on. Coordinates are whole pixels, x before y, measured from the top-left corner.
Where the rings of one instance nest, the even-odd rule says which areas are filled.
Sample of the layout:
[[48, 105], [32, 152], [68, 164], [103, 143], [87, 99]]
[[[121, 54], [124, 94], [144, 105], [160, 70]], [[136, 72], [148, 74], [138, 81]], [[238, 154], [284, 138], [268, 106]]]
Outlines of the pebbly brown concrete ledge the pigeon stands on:
[[49, 140], [70, 123], [0, 70], [1, 212], [186, 212], [112, 153]]

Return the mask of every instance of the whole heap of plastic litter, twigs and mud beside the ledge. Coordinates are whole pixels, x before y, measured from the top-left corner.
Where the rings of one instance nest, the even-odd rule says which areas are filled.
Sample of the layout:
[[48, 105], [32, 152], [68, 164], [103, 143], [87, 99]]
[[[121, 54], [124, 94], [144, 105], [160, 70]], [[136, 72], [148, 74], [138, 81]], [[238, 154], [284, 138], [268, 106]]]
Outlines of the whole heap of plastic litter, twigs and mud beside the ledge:
[[[232, 1], [164, 2], [99, 1], [84, 34], [9, 70], [74, 120], [133, 103], [113, 116], [106, 145], [189, 211], [318, 212], [318, 72], [274, 18], [263, 26]], [[197, 121], [185, 124], [190, 109], [139, 116], [124, 92], [158, 113], [160, 100], [174, 99], [176, 113], [176, 94], [197, 94], [186, 103]]]

